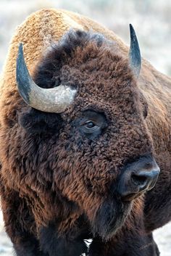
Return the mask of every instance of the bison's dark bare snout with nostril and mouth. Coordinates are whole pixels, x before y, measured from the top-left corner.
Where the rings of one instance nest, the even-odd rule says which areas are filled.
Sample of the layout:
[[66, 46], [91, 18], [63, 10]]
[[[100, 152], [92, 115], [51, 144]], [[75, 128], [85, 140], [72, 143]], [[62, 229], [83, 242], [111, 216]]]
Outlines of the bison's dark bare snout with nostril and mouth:
[[144, 156], [128, 164], [122, 171], [117, 191], [122, 199], [130, 201], [155, 186], [159, 166], [151, 156]]

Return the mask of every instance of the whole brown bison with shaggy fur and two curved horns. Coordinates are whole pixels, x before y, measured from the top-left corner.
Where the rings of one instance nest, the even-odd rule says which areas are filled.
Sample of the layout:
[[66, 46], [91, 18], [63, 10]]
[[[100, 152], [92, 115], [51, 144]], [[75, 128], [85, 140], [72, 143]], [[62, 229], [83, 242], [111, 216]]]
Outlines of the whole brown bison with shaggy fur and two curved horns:
[[159, 255], [171, 79], [141, 65], [132, 25], [129, 49], [87, 17], [30, 15], [12, 38], [0, 110], [1, 208], [17, 256]]

